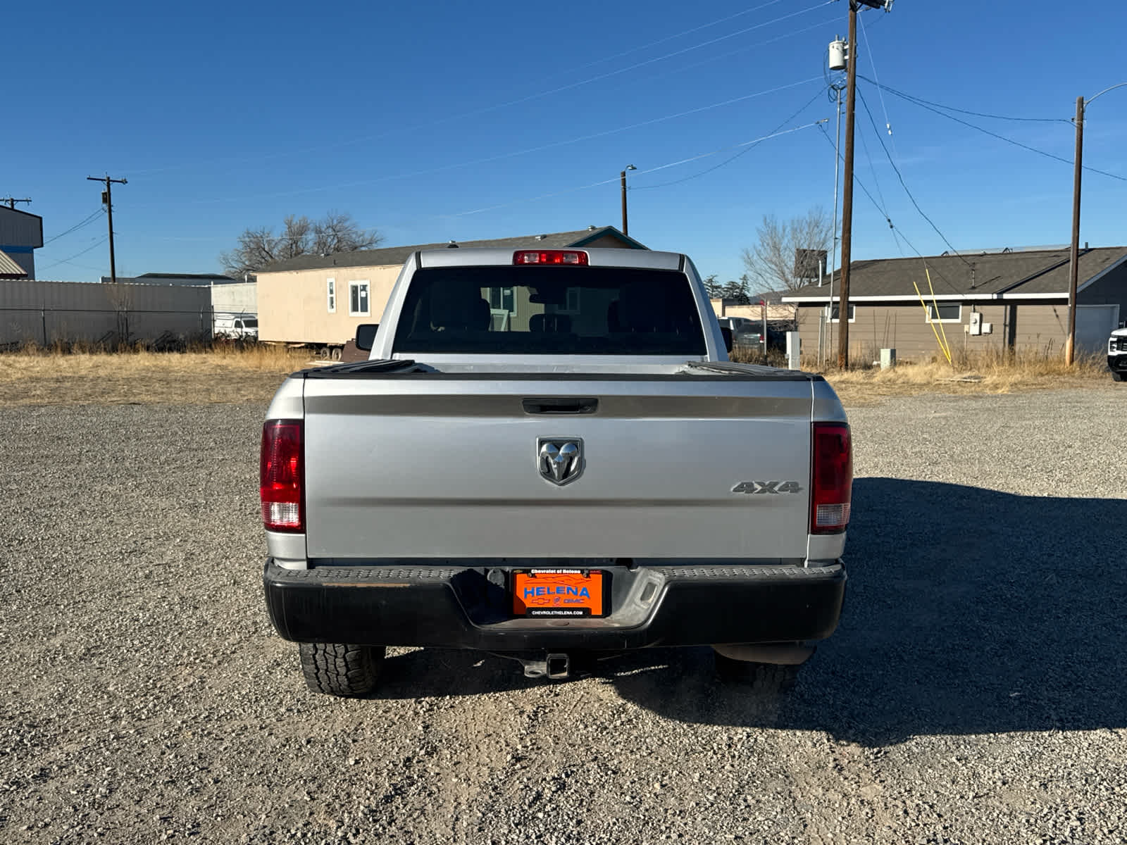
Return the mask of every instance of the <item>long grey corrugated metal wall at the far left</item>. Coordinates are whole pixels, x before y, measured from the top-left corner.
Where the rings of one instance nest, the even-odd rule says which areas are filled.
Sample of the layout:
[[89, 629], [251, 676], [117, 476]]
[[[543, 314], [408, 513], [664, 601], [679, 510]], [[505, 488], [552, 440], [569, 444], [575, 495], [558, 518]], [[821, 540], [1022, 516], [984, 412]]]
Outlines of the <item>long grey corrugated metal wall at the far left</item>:
[[128, 341], [165, 332], [210, 336], [211, 288], [181, 285], [98, 285], [80, 282], [0, 282], [0, 344], [56, 340]]

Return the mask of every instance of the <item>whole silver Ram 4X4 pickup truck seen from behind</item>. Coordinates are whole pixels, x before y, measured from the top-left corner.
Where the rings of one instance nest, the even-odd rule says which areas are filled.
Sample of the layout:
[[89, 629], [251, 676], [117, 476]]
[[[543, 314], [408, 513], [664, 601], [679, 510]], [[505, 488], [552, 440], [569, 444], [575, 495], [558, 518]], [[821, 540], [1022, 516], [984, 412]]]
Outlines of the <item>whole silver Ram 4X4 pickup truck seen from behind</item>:
[[370, 694], [389, 646], [553, 678], [711, 646], [772, 683], [837, 625], [845, 412], [820, 376], [729, 362], [685, 256], [421, 251], [373, 329], [263, 429], [266, 603], [312, 690]]

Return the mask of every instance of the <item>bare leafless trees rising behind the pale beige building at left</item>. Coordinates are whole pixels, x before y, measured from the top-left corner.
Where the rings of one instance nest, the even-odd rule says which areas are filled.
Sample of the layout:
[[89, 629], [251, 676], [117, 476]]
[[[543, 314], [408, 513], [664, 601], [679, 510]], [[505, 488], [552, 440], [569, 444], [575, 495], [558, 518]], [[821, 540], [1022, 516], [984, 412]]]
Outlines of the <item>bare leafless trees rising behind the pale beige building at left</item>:
[[383, 235], [376, 230], [361, 229], [344, 212], [331, 211], [318, 221], [291, 214], [283, 221], [279, 234], [274, 234], [270, 226], [243, 230], [234, 249], [222, 252], [219, 260], [228, 275], [239, 278], [273, 261], [310, 254], [355, 252], [382, 241]]

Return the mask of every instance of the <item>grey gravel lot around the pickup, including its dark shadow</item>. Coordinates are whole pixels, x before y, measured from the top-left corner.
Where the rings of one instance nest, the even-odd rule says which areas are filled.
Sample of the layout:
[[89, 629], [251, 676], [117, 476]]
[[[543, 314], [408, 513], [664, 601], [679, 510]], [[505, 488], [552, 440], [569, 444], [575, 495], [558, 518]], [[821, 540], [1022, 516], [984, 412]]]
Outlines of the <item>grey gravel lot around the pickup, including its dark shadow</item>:
[[854, 410], [845, 617], [789, 696], [707, 649], [399, 650], [371, 701], [267, 622], [261, 406], [0, 409], [0, 842], [1127, 842], [1125, 409]]

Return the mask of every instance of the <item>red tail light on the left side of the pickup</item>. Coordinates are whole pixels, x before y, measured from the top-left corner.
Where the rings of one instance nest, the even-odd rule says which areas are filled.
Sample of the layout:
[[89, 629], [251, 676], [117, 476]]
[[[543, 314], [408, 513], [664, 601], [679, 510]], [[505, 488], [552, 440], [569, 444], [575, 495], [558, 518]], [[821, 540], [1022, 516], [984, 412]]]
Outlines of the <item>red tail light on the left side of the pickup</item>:
[[300, 419], [272, 419], [263, 426], [258, 495], [267, 531], [305, 527], [305, 464]]

